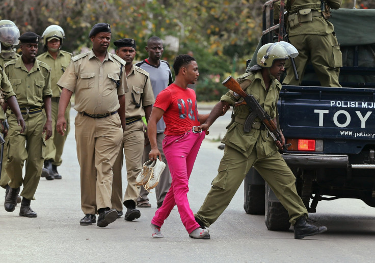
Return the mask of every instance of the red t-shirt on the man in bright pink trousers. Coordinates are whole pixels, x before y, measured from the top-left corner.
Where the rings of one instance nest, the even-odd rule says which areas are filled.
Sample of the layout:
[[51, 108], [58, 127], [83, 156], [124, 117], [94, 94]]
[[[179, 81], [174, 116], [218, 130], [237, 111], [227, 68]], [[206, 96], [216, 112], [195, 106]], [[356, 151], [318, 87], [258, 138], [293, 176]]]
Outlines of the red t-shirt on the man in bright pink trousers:
[[156, 96], [154, 107], [164, 110], [165, 135], [180, 135], [200, 126], [194, 90], [172, 83]]

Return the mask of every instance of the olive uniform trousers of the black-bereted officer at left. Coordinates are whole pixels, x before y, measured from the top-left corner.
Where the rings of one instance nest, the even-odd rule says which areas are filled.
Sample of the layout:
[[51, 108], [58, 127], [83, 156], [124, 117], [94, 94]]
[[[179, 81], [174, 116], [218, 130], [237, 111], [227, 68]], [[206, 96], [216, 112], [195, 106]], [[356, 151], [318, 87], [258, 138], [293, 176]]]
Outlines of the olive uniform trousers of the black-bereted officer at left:
[[[6, 170], [10, 178], [9, 186], [18, 188], [23, 184], [21, 196], [35, 200], [45, 153], [45, 134], [42, 134], [46, 118], [42, 112], [23, 114], [26, 128], [23, 134], [17, 118], [11, 114], [8, 118], [9, 132], [7, 136], [8, 158]], [[25, 147], [26, 145], [26, 147]], [[25, 176], [22, 179], [22, 168], [26, 161]]]

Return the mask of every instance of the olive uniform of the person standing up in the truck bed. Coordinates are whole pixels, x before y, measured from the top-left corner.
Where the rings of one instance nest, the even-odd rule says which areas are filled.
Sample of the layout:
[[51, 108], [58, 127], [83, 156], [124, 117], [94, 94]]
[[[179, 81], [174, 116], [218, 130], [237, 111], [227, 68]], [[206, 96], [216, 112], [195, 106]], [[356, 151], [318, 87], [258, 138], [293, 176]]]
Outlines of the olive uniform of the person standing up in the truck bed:
[[[338, 9], [341, 2], [342, 0], [327, 0], [332, 9]], [[299, 80], [294, 77], [291, 62], [288, 60], [285, 64], [287, 75], [284, 84], [300, 85], [306, 65], [311, 61], [322, 86], [341, 87], [338, 82], [342, 67], [340, 46], [333, 24], [320, 12], [320, 3], [320, 0], [294, 0], [288, 11], [289, 41], [299, 52], [294, 59]], [[285, 5], [288, 6], [287, 3]]]

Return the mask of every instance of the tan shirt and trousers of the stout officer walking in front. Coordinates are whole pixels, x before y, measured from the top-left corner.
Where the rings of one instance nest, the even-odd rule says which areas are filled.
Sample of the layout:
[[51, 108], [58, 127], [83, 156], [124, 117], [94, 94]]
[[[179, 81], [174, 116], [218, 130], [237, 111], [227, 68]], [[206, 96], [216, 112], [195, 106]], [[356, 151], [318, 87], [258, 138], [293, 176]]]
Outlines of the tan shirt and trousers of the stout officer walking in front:
[[[125, 61], [106, 53], [101, 62], [91, 50], [72, 57], [58, 81], [61, 88], [75, 94], [75, 140], [81, 167], [81, 207], [84, 214], [112, 208], [112, 167], [123, 137], [118, 96], [128, 92]], [[122, 72], [122, 73], [121, 73]], [[115, 83], [119, 83], [117, 84]], [[88, 114], [113, 113], [105, 118]]]

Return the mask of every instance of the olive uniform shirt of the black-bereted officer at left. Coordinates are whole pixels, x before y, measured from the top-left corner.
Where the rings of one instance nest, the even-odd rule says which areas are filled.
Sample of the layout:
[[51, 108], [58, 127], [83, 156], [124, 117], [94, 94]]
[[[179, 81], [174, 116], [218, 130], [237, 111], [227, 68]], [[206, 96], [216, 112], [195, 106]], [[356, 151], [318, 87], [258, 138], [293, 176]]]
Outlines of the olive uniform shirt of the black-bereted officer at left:
[[43, 98], [52, 96], [50, 71], [44, 62], [35, 60], [30, 71], [23, 64], [22, 57], [4, 65], [20, 108], [25, 106], [42, 107]]

